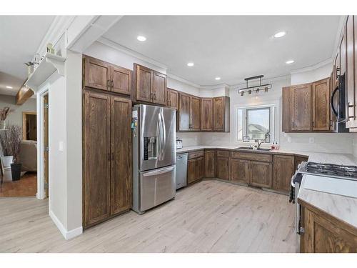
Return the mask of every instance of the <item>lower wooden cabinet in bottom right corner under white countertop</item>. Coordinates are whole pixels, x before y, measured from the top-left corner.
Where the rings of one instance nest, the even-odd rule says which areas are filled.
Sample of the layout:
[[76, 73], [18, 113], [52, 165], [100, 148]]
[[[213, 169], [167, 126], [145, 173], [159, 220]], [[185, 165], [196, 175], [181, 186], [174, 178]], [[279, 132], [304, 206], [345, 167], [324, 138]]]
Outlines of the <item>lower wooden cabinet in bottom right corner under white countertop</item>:
[[301, 207], [300, 252], [357, 253], [357, 230], [331, 216]]

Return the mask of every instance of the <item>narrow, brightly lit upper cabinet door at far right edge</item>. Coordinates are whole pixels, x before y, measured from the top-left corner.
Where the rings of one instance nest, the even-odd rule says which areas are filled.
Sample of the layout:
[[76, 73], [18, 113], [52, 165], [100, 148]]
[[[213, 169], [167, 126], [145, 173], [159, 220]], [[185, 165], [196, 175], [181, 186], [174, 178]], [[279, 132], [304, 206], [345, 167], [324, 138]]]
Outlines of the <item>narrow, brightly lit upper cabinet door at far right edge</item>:
[[346, 127], [356, 127], [354, 16], [346, 21]]

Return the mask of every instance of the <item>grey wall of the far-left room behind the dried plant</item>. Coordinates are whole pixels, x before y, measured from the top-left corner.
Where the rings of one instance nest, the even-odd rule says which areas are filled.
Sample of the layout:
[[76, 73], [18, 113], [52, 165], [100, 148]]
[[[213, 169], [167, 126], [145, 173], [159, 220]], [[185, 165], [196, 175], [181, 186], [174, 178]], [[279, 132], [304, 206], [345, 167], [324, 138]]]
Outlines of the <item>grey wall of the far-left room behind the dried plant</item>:
[[4, 107], [10, 107], [15, 111], [6, 118], [6, 124], [16, 124], [22, 127], [22, 112], [32, 111], [36, 112], [36, 99], [28, 99], [22, 105], [16, 105], [16, 97], [9, 95], [0, 95], [0, 109]]

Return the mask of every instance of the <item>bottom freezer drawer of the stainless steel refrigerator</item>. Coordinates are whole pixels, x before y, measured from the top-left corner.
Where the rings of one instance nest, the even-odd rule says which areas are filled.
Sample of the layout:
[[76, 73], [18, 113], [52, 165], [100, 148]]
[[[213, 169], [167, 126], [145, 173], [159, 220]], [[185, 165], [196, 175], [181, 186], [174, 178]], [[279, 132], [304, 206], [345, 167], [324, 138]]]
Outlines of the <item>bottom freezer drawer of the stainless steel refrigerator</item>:
[[156, 207], [176, 194], [176, 166], [141, 172], [140, 177], [140, 212]]

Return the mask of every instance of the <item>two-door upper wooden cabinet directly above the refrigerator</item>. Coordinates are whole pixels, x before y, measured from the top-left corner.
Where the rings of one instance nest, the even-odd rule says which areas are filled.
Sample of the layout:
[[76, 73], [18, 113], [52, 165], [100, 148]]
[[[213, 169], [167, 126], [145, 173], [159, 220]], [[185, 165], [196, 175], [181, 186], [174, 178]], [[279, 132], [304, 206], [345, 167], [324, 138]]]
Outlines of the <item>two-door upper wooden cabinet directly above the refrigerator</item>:
[[134, 99], [166, 105], [166, 74], [134, 64]]

